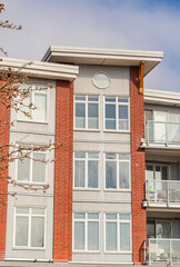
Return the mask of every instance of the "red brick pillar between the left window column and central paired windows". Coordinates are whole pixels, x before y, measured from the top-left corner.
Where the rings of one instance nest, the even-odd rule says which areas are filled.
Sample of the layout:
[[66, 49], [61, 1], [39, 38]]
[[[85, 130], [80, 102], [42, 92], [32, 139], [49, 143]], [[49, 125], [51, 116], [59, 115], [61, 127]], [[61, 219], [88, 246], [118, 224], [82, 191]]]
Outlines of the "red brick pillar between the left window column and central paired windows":
[[57, 81], [53, 260], [72, 259], [73, 86]]

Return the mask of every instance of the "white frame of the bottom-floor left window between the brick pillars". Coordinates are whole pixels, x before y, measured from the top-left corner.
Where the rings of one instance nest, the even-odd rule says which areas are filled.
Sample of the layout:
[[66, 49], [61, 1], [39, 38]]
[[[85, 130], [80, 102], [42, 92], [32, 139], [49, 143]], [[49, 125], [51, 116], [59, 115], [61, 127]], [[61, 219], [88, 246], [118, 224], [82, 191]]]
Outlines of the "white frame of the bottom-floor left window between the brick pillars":
[[[76, 219], [74, 218], [74, 214], [84, 214], [86, 215], [86, 217], [84, 217], [84, 219]], [[99, 215], [99, 218], [98, 219], [89, 219], [88, 218], [88, 214], [98, 214]], [[73, 227], [72, 227], [72, 251], [73, 253], [93, 253], [93, 254], [97, 254], [97, 253], [100, 253], [100, 214], [97, 211], [88, 211], [88, 212], [86, 212], [86, 211], [73, 211], [73, 215], [72, 215], [72, 217], [73, 217]], [[74, 222], [76, 221], [83, 221], [84, 222], [84, 249], [82, 250], [82, 249], [76, 249], [74, 248]], [[96, 222], [98, 222], [99, 225], [99, 249], [98, 250], [88, 250], [88, 222], [89, 221], [96, 221]]]

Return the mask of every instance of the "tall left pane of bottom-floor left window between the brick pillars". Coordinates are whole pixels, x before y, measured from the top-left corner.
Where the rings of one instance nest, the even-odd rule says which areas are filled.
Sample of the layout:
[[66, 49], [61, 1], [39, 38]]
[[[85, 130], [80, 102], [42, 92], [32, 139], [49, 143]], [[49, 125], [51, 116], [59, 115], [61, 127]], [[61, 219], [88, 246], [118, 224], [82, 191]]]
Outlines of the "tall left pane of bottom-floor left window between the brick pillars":
[[84, 249], [84, 222], [76, 221], [74, 222], [74, 249], [83, 250]]

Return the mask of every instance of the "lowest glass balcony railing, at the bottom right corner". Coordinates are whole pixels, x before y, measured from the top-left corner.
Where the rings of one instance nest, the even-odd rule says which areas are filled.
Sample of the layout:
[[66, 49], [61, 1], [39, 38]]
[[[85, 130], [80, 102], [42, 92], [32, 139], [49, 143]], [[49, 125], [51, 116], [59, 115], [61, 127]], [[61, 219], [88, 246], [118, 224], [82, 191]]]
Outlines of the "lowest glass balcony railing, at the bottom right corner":
[[150, 238], [144, 240], [143, 251], [144, 263], [149, 265], [157, 261], [167, 261], [171, 266], [180, 264], [180, 239]]

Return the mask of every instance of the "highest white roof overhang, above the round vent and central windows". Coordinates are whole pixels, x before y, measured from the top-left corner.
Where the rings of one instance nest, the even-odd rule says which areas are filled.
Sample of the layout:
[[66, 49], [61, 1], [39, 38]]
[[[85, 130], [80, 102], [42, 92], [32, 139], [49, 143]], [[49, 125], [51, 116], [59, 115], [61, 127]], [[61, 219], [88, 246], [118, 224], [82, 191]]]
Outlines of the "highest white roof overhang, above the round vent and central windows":
[[100, 66], [140, 66], [141, 61], [144, 61], [143, 76], [146, 76], [162, 60], [162, 57], [161, 51], [51, 46], [42, 61]]

